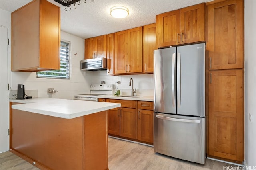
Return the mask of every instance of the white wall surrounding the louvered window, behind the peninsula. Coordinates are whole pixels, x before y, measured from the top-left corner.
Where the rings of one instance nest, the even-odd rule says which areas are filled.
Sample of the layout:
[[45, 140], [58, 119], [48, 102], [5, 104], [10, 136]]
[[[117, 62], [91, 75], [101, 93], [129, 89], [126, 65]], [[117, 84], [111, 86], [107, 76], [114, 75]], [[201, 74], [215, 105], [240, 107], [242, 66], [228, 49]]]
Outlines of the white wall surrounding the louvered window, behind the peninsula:
[[[84, 39], [61, 31], [61, 40], [70, 42], [70, 80], [36, 78], [35, 72], [11, 72], [12, 90], [17, 90], [17, 84], [24, 84], [27, 90], [37, 89], [38, 97], [67, 99], [73, 98], [74, 94], [89, 92], [92, 73], [85, 74], [80, 70], [80, 60], [84, 59]], [[55, 88], [58, 93], [49, 94], [47, 88]]]

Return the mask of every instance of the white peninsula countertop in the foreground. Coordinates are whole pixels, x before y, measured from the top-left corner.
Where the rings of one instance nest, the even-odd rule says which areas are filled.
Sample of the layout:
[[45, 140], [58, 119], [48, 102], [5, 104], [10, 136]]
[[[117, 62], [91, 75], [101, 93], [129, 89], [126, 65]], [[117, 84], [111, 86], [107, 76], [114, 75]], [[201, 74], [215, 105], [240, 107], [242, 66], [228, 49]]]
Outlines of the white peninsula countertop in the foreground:
[[12, 105], [12, 109], [65, 119], [72, 119], [121, 106], [118, 103], [56, 98], [12, 99], [10, 102], [22, 103]]

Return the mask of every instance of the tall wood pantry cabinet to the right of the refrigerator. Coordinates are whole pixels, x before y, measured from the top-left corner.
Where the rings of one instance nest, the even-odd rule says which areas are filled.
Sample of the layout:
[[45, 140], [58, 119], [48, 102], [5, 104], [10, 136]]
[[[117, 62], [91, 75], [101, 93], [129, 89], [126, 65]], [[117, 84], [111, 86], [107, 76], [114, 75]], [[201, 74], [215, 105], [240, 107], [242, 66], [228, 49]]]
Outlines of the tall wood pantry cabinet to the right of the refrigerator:
[[244, 160], [244, 1], [209, 2], [208, 157]]

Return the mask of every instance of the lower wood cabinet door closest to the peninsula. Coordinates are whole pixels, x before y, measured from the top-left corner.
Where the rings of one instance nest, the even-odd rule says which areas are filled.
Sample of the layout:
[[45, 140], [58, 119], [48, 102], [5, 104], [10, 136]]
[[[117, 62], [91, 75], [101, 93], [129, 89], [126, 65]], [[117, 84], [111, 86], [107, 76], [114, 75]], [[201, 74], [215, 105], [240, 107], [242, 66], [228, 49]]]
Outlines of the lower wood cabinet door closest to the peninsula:
[[120, 108], [108, 110], [108, 134], [120, 135]]

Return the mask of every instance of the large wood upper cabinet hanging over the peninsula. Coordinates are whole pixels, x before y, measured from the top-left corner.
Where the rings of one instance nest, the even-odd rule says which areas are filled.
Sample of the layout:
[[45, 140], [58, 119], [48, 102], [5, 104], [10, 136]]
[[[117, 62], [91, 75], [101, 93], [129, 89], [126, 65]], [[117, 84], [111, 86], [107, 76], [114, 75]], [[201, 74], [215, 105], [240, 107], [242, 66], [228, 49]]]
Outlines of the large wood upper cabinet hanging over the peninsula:
[[12, 12], [12, 71], [60, 68], [60, 7], [35, 0]]

